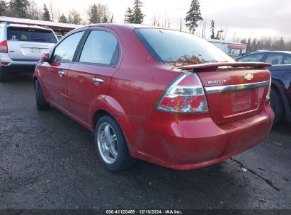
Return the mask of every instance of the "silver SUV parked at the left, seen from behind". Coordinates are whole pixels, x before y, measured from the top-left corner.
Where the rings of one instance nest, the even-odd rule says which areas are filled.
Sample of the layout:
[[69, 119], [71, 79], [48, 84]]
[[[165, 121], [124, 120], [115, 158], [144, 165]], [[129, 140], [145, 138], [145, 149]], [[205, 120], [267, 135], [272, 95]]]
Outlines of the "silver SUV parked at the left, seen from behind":
[[50, 52], [57, 36], [36, 25], [0, 24], [0, 81], [10, 72], [33, 72], [42, 54]]

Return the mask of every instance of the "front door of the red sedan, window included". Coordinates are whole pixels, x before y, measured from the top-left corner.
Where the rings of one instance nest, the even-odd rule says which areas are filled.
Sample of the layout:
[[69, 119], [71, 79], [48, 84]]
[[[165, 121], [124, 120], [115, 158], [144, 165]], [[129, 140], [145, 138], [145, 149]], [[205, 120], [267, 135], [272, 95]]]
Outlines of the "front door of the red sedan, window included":
[[68, 110], [67, 81], [68, 70], [72, 66], [76, 47], [84, 35], [84, 30], [64, 38], [52, 52], [49, 62], [42, 66], [42, 83], [47, 99], [58, 108]]

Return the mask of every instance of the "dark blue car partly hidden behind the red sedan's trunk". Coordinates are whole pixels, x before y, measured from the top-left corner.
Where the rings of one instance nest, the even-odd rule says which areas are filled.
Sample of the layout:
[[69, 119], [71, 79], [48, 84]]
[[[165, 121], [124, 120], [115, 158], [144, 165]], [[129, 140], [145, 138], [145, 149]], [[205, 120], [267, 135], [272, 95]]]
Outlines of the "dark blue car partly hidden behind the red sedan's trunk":
[[274, 123], [284, 118], [291, 122], [291, 52], [257, 52], [239, 57], [237, 62], [266, 62], [272, 76], [270, 105], [275, 112]]

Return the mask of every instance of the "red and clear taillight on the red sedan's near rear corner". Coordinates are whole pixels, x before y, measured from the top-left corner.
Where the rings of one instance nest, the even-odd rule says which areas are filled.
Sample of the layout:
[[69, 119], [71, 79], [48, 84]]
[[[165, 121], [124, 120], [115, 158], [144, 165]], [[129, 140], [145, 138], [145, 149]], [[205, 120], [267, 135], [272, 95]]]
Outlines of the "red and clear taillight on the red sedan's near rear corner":
[[169, 86], [157, 105], [170, 112], [208, 112], [207, 100], [197, 74], [183, 74]]

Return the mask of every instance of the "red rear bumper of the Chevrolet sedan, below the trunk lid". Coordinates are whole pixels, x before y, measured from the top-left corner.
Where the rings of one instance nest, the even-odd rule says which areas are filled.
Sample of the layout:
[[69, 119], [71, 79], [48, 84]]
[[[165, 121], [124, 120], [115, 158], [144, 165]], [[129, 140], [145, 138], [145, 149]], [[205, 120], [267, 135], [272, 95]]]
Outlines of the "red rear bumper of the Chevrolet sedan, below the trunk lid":
[[266, 104], [257, 115], [218, 126], [208, 114], [195, 117], [156, 111], [145, 123], [132, 119], [137, 135], [132, 156], [167, 168], [201, 168], [260, 144], [274, 115]]

